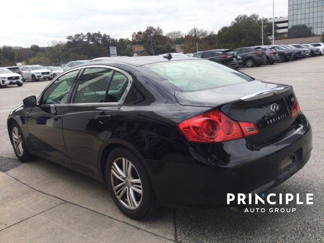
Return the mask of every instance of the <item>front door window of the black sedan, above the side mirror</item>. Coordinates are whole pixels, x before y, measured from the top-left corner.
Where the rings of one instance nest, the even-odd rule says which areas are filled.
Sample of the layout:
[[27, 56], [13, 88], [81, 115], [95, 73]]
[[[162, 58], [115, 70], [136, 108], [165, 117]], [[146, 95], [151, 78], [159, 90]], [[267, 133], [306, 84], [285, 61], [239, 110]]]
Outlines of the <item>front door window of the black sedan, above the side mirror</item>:
[[66, 104], [78, 70], [68, 72], [58, 79], [44, 92], [42, 105]]

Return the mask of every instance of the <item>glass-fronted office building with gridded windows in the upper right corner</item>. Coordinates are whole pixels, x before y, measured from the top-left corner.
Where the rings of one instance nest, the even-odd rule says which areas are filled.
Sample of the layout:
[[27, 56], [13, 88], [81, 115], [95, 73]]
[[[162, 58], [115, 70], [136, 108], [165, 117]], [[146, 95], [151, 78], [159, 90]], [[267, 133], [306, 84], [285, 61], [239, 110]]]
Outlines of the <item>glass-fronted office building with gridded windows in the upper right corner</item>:
[[289, 37], [310, 37], [324, 32], [324, 1], [288, 1]]

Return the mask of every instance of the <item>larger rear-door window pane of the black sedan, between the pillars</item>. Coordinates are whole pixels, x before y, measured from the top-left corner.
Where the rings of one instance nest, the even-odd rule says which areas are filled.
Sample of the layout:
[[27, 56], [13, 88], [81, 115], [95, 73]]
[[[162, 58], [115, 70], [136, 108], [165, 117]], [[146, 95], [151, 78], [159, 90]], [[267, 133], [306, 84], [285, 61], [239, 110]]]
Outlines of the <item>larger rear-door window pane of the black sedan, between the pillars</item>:
[[107, 68], [85, 69], [74, 98], [74, 103], [104, 102], [113, 70]]

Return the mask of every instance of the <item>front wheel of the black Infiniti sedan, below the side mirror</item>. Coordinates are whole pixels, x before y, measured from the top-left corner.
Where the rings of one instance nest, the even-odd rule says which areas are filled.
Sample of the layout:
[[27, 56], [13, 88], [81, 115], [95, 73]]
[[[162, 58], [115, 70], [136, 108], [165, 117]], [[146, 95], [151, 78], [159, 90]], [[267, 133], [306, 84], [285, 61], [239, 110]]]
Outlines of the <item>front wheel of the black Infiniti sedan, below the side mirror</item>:
[[10, 126], [10, 141], [14, 148], [15, 154], [20, 161], [26, 162], [33, 158], [33, 155], [31, 155], [28, 151], [25, 143], [25, 138], [16, 121], [13, 121]]

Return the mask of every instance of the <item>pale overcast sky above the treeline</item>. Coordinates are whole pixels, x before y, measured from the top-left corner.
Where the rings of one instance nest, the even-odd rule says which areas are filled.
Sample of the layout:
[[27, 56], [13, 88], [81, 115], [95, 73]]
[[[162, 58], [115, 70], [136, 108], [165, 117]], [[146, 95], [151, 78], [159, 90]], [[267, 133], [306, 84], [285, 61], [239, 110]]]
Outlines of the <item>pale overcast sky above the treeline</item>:
[[[275, 17], [288, 15], [288, 0], [274, 0]], [[217, 31], [240, 14], [272, 17], [272, 0], [20, 1], [0, 3], [0, 46], [49, 46], [76, 33], [131, 38], [146, 26], [164, 33], [193, 27]]]

